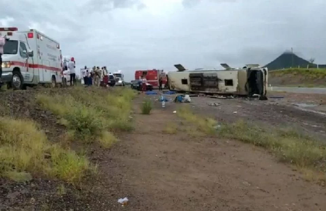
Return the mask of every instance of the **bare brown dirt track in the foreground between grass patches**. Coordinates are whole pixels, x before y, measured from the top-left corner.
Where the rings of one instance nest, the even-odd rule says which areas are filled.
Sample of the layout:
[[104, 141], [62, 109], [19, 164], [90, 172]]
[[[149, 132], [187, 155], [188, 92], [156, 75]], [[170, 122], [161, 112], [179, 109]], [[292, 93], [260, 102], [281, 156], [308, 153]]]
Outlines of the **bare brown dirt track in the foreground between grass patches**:
[[136, 113], [136, 130], [120, 142], [123, 153], [114, 153], [124, 175], [121, 188], [131, 187], [138, 196], [130, 198], [126, 210], [326, 207], [324, 188], [304, 181], [265, 150], [234, 140], [165, 133], [167, 124], [183, 125], [174, 106], [161, 109], [155, 102], [151, 115]]

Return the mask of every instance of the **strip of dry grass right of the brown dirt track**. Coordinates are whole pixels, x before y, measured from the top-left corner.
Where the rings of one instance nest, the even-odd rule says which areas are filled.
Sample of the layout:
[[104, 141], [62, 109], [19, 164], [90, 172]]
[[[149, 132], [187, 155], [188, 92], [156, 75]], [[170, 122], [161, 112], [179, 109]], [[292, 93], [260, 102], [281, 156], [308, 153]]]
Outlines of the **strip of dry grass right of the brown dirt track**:
[[[239, 120], [234, 124], [218, 123], [213, 119], [194, 114], [190, 107], [177, 111], [178, 116], [195, 126], [191, 134], [206, 134], [220, 138], [236, 139], [263, 147], [280, 161], [291, 163], [301, 170], [307, 179], [326, 182], [326, 146], [311, 137], [291, 129], [262, 129]], [[174, 133], [171, 128], [166, 129]]]

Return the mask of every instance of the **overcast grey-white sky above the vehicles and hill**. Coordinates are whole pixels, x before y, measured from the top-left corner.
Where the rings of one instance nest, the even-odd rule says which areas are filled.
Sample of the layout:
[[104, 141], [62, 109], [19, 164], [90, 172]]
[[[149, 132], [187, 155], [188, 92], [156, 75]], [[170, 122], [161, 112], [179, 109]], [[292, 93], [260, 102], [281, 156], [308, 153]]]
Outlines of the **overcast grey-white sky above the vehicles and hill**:
[[87, 65], [265, 65], [285, 50], [326, 64], [325, 0], [1, 0], [0, 25], [37, 29]]

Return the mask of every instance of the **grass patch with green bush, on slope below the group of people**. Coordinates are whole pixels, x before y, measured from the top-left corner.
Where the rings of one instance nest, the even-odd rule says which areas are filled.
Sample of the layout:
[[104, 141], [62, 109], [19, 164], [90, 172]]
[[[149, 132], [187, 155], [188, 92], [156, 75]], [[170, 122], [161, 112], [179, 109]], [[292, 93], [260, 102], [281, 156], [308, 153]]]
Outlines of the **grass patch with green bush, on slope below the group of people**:
[[117, 139], [116, 131], [132, 129], [131, 100], [135, 92], [127, 88], [108, 91], [99, 88], [75, 87], [64, 95], [38, 95], [37, 102], [60, 116], [76, 140], [86, 143], [98, 141], [110, 147]]

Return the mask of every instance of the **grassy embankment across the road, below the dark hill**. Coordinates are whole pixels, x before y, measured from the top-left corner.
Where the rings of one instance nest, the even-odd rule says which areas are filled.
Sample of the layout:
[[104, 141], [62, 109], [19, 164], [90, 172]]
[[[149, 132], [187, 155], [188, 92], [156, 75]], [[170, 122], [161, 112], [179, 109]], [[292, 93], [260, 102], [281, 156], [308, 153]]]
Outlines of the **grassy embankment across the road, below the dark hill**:
[[286, 87], [326, 87], [326, 69], [289, 68], [269, 72], [269, 82]]

